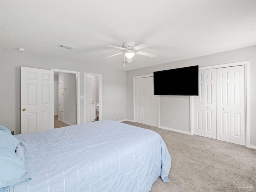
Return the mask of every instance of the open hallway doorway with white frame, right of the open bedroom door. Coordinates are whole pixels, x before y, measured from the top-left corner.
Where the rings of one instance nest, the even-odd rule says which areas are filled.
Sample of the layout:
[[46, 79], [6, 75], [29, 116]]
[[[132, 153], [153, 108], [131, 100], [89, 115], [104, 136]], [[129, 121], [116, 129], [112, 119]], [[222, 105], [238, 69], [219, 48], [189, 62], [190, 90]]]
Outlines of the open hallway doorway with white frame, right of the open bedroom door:
[[80, 124], [79, 72], [54, 71], [54, 128]]

